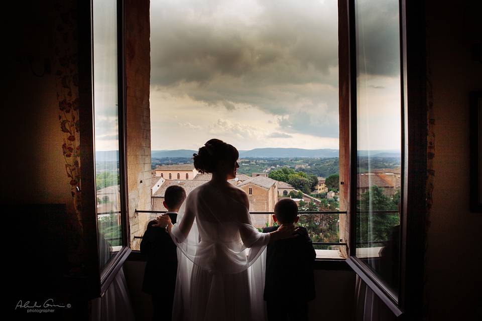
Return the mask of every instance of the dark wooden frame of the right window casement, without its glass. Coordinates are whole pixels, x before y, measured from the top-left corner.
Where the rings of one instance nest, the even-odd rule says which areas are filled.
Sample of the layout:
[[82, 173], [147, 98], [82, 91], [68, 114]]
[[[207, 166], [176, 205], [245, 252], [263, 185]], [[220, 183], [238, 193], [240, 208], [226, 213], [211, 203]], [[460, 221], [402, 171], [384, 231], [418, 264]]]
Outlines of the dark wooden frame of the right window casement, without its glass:
[[[410, 319], [421, 317], [423, 302], [424, 226], [426, 213], [427, 176], [427, 107], [425, 74], [425, 30], [423, 2], [399, 1], [400, 57], [401, 57], [401, 115], [402, 115], [402, 191], [400, 286], [394, 293], [382, 279], [355, 255], [356, 249], [356, 52], [354, 0], [340, 0], [339, 19], [346, 24], [349, 64], [345, 68], [349, 80], [343, 89], [349, 99], [350, 183], [349, 209], [350, 236], [346, 263], [377, 294], [395, 316]], [[343, 13], [343, 14], [342, 14]], [[409, 13], [407, 15], [407, 13]], [[343, 35], [341, 35], [343, 37]], [[340, 55], [341, 57], [341, 55]], [[340, 64], [343, 62], [340, 61]], [[340, 119], [342, 121], [342, 119]], [[410, 189], [408, 188], [410, 187]]]

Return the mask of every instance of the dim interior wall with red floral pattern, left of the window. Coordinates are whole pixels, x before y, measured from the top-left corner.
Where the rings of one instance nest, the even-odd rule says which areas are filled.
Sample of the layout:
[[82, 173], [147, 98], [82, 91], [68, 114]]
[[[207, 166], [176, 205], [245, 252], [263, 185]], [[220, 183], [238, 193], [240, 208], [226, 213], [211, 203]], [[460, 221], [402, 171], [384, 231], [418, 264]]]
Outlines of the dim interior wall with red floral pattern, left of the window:
[[[76, 1], [35, 2], [8, 20], [2, 204], [65, 204], [70, 260], [81, 235]], [[12, 11], [15, 12], [15, 11]]]

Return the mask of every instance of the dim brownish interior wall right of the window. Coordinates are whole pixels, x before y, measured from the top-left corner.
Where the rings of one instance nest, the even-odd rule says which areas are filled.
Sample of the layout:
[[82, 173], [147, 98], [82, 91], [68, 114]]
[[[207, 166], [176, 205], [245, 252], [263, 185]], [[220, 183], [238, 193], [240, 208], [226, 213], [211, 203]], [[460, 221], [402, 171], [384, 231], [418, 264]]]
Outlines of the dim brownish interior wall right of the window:
[[482, 40], [482, 9], [480, 2], [426, 4], [429, 133], [434, 143], [426, 319], [481, 319], [482, 213], [469, 211], [469, 92], [482, 89], [482, 63], [471, 53]]

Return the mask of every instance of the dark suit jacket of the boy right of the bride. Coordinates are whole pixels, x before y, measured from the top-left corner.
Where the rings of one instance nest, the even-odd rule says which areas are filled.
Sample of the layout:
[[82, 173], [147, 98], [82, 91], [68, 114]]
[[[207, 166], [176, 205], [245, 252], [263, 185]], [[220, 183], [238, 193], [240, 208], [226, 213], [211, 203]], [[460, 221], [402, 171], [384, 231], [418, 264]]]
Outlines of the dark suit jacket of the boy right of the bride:
[[[277, 229], [278, 226], [266, 227], [263, 232]], [[310, 301], [315, 298], [315, 249], [304, 227], [299, 228], [298, 234], [295, 238], [268, 245], [264, 291], [266, 301]]]

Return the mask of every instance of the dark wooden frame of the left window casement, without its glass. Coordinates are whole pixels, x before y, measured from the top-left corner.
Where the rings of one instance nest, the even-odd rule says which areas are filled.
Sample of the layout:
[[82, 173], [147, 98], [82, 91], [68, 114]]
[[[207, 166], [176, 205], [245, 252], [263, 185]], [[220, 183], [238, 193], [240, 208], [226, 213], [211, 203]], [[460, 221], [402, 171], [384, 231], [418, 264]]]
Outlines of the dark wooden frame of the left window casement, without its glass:
[[124, 43], [124, 1], [117, 0], [117, 88], [119, 119], [119, 185], [121, 195], [121, 241], [122, 249], [101, 269], [98, 242], [96, 188], [95, 188], [95, 135], [94, 135], [94, 92], [93, 92], [93, 2], [79, 2], [79, 108], [80, 121], [80, 164], [82, 177], [82, 223], [85, 255], [84, 291], [87, 297], [101, 296], [109, 287], [115, 275], [131, 253], [129, 239], [129, 214], [127, 193], [127, 108], [126, 108], [126, 67]]

